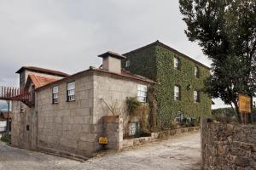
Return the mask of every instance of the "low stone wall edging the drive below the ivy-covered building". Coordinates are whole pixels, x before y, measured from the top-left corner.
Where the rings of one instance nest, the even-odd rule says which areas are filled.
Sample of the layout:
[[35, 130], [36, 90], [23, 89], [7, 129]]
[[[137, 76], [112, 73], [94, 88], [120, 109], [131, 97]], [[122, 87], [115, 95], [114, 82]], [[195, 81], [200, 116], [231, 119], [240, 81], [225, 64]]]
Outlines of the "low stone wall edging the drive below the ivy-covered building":
[[159, 133], [151, 133], [151, 136], [149, 136], [149, 137], [124, 139], [123, 140], [123, 148], [146, 144], [146, 143], [154, 142], [157, 139], [165, 139], [170, 136], [176, 136], [176, 135], [183, 134], [183, 133], [198, 132], [199, 129], [200, 129], [200, 127], [184, 127], [184, 128], [166, 130], [166, 131], [162, 131]]

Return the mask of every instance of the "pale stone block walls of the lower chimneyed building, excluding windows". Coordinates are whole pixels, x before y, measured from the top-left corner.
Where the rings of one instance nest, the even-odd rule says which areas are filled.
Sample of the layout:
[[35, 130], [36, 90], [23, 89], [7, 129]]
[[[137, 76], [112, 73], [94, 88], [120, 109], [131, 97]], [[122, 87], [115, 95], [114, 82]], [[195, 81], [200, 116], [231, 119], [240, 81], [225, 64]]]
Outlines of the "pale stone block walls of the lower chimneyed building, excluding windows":
[[[67, 101], [67, 82], [75, 82], [75, 101]], [[112, 129], [121, 126], [118, 128], [122, 131], [119, 135], [123, 135], [123, 127], [127, 128], [129, 123], [125, 100], [137, 96], [138, 84], [148, 83], [103, 72], [82, 71], [38, 88], [34, 109], [26, 107], [26, 111], [20, 113], [20, 102], [14, 105], [12, 141], [26, 149], [69, 156], [93, 156], [96, 150], [102, 148], [98, 139], [105, 135], [104, 116], [124, 116], [126, 123], [121, 121], [122, 126], [115, 123], [108, 125]], [[59, 87], [58, 104], [52, 103], [55, 86]], [[30, 126], [29, 131], [26, 125]], [[121, 136], [117, 140], [110, 138], [109, 148], [120, 149]]]

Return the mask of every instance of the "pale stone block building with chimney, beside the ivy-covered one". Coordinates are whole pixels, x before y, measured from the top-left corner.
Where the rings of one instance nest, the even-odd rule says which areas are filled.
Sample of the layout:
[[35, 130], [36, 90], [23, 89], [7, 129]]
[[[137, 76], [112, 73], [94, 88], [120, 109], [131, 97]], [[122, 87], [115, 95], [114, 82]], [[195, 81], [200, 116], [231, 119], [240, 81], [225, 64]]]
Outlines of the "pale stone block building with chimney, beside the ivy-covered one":
[[[12, 144], [85, 157], [101, 149], [98, 140], [106, 136], [106, 128], [113, 125], [116, 131], [116, 120], [106, 116], [127, 116], [127, 97], [146, 102], [147, 89], [154, 82], [122, 71], [123, 55], [107, 52], [99, 57], [102, 68], [90, 67], [73, 75], [37, 67], [22, 67], [17, 71], [20, 89], [24, 88], [29, 97], [13, 102]], [[109, 139], [113, 149], [121, 148], [123, 134], [132, 133], [131, 125], [139, 121], [127, 116], [122, 122], [120, 117], [118, 124], [122, 127], [118, 130], [122, 132], [117, 135], [110, 132], [117, 139], [113, 142], [113, 138]], [[112, 124], [104, 126], [104, 120]]]

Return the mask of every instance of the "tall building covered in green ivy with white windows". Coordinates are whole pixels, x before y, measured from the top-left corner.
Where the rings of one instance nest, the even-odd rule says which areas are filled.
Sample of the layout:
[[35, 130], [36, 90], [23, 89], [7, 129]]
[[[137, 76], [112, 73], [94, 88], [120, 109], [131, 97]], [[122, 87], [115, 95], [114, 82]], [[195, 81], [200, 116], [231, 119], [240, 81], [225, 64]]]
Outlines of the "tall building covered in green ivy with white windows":
[[158, 82], [154, 92], [161, 127], [211, 114], [212, 99], [203, 91], [209, 67], [159, 41], [124, 55], [125, 70]]

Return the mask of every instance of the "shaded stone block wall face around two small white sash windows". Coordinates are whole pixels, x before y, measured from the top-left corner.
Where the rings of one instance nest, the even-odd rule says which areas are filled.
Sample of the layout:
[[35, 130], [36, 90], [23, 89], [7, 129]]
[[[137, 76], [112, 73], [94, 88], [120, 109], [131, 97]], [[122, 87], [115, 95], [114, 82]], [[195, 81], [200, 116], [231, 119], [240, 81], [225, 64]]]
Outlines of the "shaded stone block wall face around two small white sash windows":
[[[75, 82], [75, 101], [67, 102], [67, 82]], [[58, 104], [52, 88], [59, 87]], [[96, 134], [92, 123], [93, 76], [84, 72], [37, 91], [38, 149], [90, 157]]]

